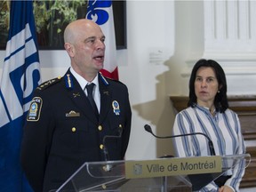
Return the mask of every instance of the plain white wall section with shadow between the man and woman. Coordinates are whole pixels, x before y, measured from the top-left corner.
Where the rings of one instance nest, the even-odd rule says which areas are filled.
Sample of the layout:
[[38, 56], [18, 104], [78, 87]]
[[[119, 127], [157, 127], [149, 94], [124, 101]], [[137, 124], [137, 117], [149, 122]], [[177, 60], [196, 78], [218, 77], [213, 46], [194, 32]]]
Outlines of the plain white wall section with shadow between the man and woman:
[[[129, 87], [132, 102], [132, 136], [126, 156], [129, 159], [171, 153], [171, 141], [156, 140], [144, 131], [144, 125], [151, 125], [159, 135], [172, 133], [172, 108], [166, 92], [169, 80], [165, 78], [170, 68], [165, 62], [174, 48], [173, 15], [170, 1], [127, 2], [127, 58], [120, 58], [119, 63], [127, 61], [120, 68], [120, 76]], [[158, 55], [159, 62], [153, 58], [158, 52], [163, 52]]]

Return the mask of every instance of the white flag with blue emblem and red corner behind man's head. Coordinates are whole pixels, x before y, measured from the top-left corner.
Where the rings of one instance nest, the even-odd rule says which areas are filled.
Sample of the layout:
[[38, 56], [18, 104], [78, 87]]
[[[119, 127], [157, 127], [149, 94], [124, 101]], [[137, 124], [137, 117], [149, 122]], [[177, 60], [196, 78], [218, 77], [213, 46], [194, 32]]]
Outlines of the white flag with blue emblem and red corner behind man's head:
[[89, 0], [86, 19], [96, 22], [106, 36], [104, 68], [100, 70], [103, 76], [118, 80], [116, 63], [116, 36], [112, 1]]

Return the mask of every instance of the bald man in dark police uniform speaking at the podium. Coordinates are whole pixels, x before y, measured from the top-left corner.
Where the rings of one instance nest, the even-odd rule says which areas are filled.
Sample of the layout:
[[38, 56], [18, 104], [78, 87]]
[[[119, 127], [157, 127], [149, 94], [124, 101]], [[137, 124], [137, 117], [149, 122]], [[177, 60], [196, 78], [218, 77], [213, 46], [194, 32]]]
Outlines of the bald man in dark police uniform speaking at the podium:
[[[21, 145], [21, 164], [35, 192], [60, 188], [84, 162], [124, 159], [131, 106], [127, 87], [99, 72], [104, 40], [92, 20], [70, 23], [64, 41], [71, 68], [36, 88]], [[95, 113], [85, 89], [92, 83]]]

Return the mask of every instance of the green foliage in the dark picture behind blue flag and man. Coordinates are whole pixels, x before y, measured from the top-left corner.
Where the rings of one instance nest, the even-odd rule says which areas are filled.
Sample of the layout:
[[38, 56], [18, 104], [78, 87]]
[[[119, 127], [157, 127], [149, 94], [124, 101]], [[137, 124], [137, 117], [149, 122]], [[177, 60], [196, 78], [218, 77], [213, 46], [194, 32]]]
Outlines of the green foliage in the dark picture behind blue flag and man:
[[[10, 0], [0, 0], [0, 48], [4, 49], [10, 21]], [[36, 33], [42, 49], [63, 49], [63, 30], [73, 20], [85, 18], [87, 0], [33, 1]]]

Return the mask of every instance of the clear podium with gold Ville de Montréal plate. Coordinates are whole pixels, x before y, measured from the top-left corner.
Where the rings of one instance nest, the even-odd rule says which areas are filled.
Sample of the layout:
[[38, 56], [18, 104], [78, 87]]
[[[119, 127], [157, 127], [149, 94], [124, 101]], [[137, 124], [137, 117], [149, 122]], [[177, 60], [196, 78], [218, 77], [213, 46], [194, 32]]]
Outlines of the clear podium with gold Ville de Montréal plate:
[[[74, 172], [60, 188], [52, 189], [51, 192], [198, 191], [230, 169], [237, 167], [245, 169], [250, 161], [251, 156], [243, 154], [205, 158], [198, 156], [142, 161], [88, 162]], [[239, 166], [236, 166], [237, 164]], [[179, 166], [181, 172], [178, 172]]]

